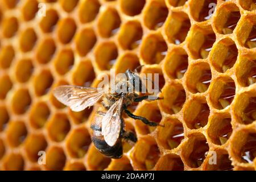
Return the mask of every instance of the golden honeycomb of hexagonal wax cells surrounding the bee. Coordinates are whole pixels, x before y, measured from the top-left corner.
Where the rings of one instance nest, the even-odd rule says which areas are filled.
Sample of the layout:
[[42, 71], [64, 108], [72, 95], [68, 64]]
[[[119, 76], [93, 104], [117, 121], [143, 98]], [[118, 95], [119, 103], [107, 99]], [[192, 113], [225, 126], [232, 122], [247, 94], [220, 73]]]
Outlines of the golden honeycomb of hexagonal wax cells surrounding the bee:
[[[255, 0], [1, 0], [0, 17], [1, 170], [256, 169]], [[106, 158], [99, 105], [74, 113], [51, 91], [139, 65], [164, 100], [130, 110], [164, 127], [124, 115], [138, 142]]]

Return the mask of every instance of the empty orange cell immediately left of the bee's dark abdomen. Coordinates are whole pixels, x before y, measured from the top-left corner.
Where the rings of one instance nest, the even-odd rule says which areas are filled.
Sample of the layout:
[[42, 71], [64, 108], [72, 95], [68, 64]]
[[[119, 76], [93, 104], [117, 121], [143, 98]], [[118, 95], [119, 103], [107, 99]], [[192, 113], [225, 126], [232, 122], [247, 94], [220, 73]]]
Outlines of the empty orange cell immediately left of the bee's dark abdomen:
[[84, 157], [90, 143], [90, 134], [84, 127], [73, 130], [67, 138], [69, 155], [71, 155], [72, 158]]

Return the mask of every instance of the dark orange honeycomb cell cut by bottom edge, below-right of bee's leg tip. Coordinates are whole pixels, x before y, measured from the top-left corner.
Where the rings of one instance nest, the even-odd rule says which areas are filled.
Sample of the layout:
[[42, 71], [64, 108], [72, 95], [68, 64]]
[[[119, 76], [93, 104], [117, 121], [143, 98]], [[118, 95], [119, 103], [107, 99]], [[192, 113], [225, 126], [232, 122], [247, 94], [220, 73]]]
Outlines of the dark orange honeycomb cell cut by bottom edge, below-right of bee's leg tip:
[[162, 156], [155, 166], [157, 171], [184, 171], [184, 164], [180, 156], [167, 154]]

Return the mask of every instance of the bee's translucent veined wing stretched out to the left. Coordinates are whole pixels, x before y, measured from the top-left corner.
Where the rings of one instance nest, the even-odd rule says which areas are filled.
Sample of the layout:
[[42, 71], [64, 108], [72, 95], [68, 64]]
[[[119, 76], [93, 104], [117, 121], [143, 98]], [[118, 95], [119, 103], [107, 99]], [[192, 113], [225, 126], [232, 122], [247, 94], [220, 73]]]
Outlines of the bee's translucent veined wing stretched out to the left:
[[102, 97], [103, 89], [63, 85], [53, 90], [54, 96], [73, 111], [93, 106]]

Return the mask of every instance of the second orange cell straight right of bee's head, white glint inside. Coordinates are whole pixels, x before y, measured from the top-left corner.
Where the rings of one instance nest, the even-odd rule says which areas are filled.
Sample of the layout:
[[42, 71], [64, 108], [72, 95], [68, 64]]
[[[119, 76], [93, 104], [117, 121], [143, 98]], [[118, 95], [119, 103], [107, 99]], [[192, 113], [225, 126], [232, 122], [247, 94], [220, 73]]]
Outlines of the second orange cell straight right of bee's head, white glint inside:
[[212, 72], [208, 63], [194, 64], [187, 72], [187, 86], [192, 93], [203, 93], [209, 88], [212, 81]]

